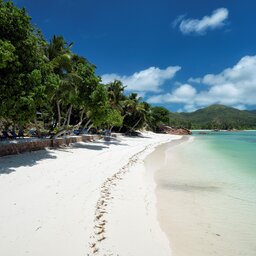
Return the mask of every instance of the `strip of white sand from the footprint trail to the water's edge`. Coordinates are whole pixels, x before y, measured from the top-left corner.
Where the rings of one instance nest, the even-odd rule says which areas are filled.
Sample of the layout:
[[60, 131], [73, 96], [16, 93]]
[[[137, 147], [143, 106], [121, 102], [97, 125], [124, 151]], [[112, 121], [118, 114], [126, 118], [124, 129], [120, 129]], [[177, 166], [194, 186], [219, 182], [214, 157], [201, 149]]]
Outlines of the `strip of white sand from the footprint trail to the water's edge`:
[[148, 173], [144, 162], [158, 146], [181, 137], [167, 135], [167, 140], [146, 146], [103, 183], [90, 242], [92, 255], [171, 255], [157, 219], [154, 173]]

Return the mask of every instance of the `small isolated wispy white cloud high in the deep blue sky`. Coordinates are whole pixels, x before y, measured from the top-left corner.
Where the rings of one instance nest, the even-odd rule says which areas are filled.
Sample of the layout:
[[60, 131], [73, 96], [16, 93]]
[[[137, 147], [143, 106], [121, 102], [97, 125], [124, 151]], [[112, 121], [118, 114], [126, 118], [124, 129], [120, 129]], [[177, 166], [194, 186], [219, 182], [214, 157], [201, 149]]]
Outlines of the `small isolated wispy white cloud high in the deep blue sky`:
[[173, 25], [179, 25], [180, 31], [185, 35], [203, 35], [207, 30], [223, 27], [228, 14], [228, 9], [219, 8], [213, 11], [210, 16], [204, 16], [202, 19], [184, 19], [184, 16], [178, 16]]

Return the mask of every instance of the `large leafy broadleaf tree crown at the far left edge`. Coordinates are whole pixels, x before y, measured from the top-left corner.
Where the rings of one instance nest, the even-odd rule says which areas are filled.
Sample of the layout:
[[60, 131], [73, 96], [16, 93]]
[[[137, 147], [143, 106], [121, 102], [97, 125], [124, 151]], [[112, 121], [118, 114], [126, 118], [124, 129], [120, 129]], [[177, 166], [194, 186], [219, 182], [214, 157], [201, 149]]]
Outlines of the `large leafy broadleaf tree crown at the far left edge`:
[[40, 33], [24, 9], [0, 1], [0, 115], [27, 122], [42, 104], [50, 83]]

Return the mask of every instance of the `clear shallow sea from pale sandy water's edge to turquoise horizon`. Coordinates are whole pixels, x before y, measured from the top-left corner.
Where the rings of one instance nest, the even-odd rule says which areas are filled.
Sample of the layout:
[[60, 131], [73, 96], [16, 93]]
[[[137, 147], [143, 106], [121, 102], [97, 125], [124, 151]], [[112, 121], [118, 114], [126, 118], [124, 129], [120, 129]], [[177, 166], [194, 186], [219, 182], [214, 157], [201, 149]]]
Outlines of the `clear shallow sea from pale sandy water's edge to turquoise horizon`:
[[146, 160], [174, 256], [256, 255], [256, 132], [195, 133]]

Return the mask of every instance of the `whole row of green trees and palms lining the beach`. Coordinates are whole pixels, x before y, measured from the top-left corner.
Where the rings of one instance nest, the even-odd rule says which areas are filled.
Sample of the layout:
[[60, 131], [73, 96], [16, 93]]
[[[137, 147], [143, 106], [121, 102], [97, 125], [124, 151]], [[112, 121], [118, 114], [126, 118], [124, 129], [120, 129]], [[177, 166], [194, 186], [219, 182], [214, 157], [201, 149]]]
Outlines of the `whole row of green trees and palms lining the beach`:
[[10, 1], [0, 0], [0, 35], [1, 129], [60, 135], [92, 127], [155, 129], [168, 122], [168, 110], [125, 95], [120, 81], [102, 84], [95, 65], [73, 53], [62, 36], [47, 42], [26, 10]]

